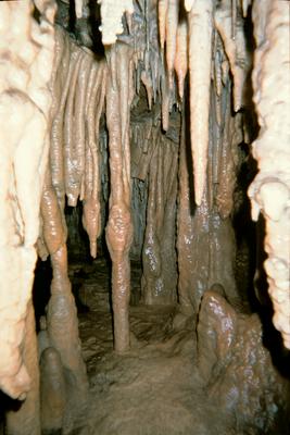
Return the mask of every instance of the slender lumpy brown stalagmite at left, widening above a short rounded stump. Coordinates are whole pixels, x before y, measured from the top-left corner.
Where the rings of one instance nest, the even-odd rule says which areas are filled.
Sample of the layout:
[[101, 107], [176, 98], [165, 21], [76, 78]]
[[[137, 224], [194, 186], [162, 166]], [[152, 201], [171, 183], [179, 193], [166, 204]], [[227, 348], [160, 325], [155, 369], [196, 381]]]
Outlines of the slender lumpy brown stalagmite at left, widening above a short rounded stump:
[[67, 276], [66, 233], [61, 213], [48, 166], [41, 200], [43, 238], [53, 271], [47, 330], [50, 346], [60, 353], [65, 371], [67, 402], [64, 428], [68, 431], [74, 419], [81, 417], [87, 406], [88, 382], [78, 338], [76, 307]]

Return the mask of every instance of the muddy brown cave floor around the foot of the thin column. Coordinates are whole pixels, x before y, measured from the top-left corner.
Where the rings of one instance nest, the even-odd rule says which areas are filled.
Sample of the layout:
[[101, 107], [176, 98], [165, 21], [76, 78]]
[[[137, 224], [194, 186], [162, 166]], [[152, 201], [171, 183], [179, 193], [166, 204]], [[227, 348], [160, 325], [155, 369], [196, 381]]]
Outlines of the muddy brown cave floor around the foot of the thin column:
[[90, 381], [86, 427], [74, 434], [237, 434], [199, 376], [193, 320], [176, 307], [138, 304], [140, 271], [135, 265], [131, 349], [123, 356], [114, 352], [109, 275], [103, 260], [71, 266]]

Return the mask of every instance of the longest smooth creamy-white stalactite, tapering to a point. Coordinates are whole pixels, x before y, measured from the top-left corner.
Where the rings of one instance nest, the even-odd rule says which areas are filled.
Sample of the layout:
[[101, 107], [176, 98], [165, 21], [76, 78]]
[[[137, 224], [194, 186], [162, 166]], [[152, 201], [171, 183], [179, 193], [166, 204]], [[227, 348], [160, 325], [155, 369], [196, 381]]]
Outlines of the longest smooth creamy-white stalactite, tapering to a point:
[[188, 21], [190, 137], [198, 206], [206, 183], [213, 8], [213, 0], [196, 0]]

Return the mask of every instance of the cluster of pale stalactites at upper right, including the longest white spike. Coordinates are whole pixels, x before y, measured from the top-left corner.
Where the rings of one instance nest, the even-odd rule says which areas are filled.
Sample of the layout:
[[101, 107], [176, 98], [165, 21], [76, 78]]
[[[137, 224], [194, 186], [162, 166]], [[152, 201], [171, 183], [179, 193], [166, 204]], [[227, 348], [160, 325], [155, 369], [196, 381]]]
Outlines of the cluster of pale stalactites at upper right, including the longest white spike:
[[166, 45], [167, 71], [171, 77], [175, 69], [180, 97], [189, 69], [191, 153], [198, 206], [206, 183], [211, 86], [214, 83], [218, 99], [225, 83], [223, 76], [229, 67], [235, 111], [242, 105], [249, 65], [242, 17], [245, 9], [232, 0], [218, 4], [214, 0], [185, 1], [186, 11], [178, 0], [159, 2], [160, 42], [162, 48]]

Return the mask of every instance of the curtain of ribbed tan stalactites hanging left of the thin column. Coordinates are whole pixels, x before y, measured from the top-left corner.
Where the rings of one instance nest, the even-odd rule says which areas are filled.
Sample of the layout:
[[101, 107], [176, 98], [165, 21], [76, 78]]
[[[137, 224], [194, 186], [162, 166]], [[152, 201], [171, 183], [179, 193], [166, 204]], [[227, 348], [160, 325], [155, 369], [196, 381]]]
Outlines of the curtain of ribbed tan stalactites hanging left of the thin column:
[[[52, 76], [52, 127], [50, 172], [64, 221], [65, 195], [71, 207], [83, 201], [83, 224], [97, 256], [101, 231], [99, 122], [105, 96], [105, 62], [77, 46], [61, 28], [55, 32], [55, 62]], [[64, 238], [66, 235], [64, 234]], [[39, 254], [46, 258], [43, 237]]]

